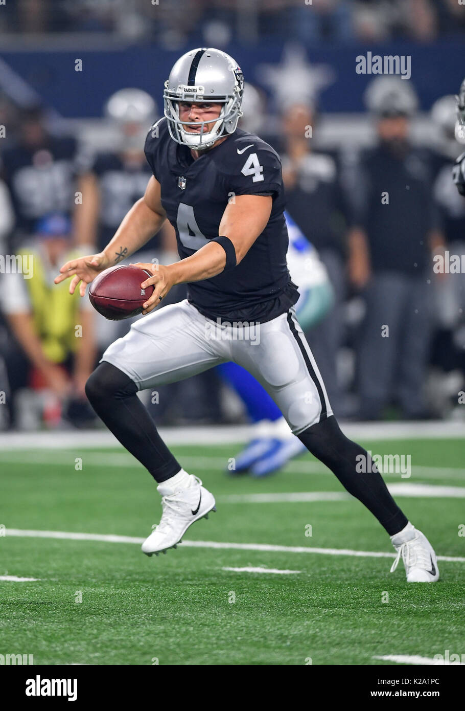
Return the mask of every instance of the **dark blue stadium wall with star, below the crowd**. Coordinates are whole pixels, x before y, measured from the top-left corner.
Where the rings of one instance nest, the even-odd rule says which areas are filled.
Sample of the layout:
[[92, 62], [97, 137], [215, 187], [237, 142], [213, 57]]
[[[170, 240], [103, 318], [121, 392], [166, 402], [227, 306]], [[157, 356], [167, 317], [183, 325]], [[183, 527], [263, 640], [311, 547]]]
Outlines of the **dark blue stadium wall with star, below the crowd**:
[[[63, 117], [98, 117], [106, 97], [124, 87], [136, 86], [150, 92], [159, 107], [163, 81], [175, 60], [189, 49], [168, 51], [157, 46], [131, 46], [108, 51], [6, 51], [1, 58], [33, 87], [44, 102]], [[246, 80], [263, 85], [260, 65], [279, 63], [283, 46], [261, 44], [253, 48], [229, 45], [227, 52], [238, 60]], [[456, 94], [465, 75], [465, 46], [460, 40], [428, 45], [386, 43], [374, 46], [322, 46], [307, 50], [311, 65], [326, 65], [334, 71], [334, 82], [323, 90], [321, 107], [327, 112], [363, 111], [363, 90], [373, 75], [356, 74], [356, 56], [368, 51], [378, 55], [410, 55], [412, 82], [420, 107], [430, 109], [444, 94]], [[82, 59], [82, 72], [75, 60]], [[292, 97], [297, 99], [298, 97]]]

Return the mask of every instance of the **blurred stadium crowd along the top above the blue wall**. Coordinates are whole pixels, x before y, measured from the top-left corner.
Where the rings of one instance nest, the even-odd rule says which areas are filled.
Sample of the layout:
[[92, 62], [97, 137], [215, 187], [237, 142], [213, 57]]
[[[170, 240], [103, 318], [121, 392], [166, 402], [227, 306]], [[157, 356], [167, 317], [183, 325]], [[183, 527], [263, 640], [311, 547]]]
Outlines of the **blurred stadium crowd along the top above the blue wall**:
[[465, 27], [456, 0], [152, 0], [152, 5], [159, 6], [156, 21], [145, 0], [18, 0], [2, 8], [0, 33], [108, 33], [183, 46], [209, 29], [228, 41], [279, 35], [311, 44], [423, 42]]

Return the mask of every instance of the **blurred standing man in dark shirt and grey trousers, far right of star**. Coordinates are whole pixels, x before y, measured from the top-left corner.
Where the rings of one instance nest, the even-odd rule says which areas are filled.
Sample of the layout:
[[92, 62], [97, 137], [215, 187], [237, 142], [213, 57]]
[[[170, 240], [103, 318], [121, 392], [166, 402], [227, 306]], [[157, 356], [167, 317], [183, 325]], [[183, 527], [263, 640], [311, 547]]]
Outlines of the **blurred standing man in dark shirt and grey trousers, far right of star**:
[[425, 151], [413, 146], [417, 100], [409, 82], [378, 77], [366, 91], [377, 144], [364, 151], [351, 191], [349, 274], [366, 316], [358, 359], [357, 417], [379, 419], [398, 402], [406, 419], [428, 416], [423, 387], [432, 333], [432, 256], [442, 246]]

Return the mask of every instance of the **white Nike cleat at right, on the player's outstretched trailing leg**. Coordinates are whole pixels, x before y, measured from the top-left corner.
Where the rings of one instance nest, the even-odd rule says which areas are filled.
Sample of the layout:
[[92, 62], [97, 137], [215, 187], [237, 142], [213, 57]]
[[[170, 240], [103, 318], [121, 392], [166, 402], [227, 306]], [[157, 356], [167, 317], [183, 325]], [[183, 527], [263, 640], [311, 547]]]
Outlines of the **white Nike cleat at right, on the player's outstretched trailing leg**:
[[409, 521], [405, 528], [390, 537], [397, 557], [390, 572], [398, 567], [400, 557], [404, 562], [407, 582], [436, 582], [439, 579], [437, 557], [430, 541]]

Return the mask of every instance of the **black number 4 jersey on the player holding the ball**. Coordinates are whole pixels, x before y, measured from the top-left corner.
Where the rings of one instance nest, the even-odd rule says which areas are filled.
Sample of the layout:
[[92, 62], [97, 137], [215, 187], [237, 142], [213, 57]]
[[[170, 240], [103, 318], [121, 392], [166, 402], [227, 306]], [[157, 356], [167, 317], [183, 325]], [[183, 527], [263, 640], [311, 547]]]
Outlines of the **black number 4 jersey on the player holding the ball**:
[[148, 133], [146, 157], [160, 183], [181, 259], [219, 236], [221, 217], [235, 196], [273, 196], [268, 224], [241, 263], [211, 279], [190, 282], [187, 299], [204, 316], [221, 321], [264, 322], [288, 311], [299, 293], [286, 263], [283, 178], [274, 149], [238, 129], [193, 159], [190, 148], [173, 141], [166, 120], [160, 119]]

